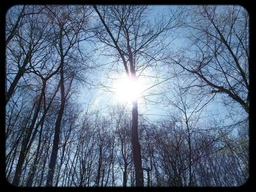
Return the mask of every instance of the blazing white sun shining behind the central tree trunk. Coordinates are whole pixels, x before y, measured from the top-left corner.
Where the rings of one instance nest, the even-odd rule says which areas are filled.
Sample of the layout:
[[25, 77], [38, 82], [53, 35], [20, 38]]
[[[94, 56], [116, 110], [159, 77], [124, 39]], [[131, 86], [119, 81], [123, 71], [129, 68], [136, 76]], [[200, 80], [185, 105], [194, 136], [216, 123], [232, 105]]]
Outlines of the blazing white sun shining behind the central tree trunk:
[[143, 88], [140, 80], [131, 77], [124, 77], [116, 82], [116, 96], [124, 102], [132, 102], [140, 98]]

